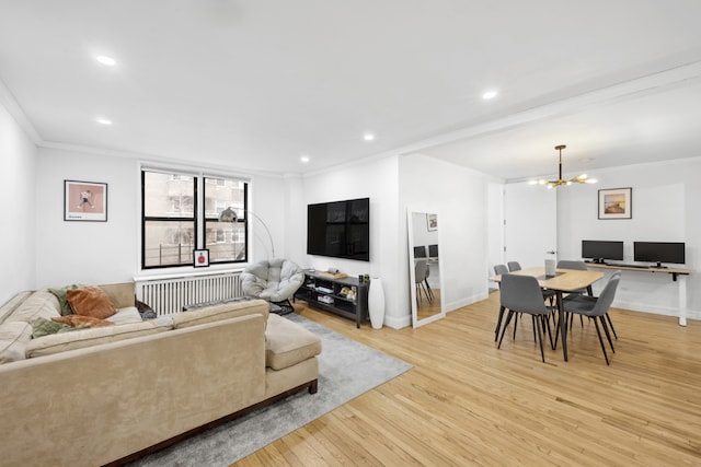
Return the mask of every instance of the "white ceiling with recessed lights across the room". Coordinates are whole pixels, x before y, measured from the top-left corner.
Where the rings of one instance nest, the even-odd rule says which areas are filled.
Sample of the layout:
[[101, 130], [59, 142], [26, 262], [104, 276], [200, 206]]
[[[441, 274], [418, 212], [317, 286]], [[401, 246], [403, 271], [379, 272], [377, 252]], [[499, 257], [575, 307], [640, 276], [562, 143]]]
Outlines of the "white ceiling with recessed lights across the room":
[[0, 0], [0, 100], [46, 147], [275, 173], [421, 152], [517, 179], [564, 143], [565, 172], [596, 172], [701, 156], [699, 20], [698, 0]]

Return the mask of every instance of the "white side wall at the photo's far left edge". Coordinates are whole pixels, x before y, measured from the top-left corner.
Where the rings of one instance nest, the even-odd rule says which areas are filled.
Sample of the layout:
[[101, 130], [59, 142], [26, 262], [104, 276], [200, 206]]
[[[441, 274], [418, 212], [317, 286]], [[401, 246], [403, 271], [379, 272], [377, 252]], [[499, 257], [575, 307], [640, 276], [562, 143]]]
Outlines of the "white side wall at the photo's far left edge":
[[0, 105], [0, 304], [22, 290], [34, 289], [34, 242], [39, 237], [35, 229], [37, 154], [36, 145]]

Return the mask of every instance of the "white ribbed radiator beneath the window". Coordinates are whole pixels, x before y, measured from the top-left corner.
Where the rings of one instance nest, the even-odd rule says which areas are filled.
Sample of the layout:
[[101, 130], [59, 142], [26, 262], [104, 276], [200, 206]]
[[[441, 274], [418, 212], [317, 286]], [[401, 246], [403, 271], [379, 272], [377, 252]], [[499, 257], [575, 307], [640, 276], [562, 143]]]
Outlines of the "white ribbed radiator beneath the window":
[[242, 296], [240, 272], [139, 280], [136, 296], [159, 316], [183, 311], [183, 306]]

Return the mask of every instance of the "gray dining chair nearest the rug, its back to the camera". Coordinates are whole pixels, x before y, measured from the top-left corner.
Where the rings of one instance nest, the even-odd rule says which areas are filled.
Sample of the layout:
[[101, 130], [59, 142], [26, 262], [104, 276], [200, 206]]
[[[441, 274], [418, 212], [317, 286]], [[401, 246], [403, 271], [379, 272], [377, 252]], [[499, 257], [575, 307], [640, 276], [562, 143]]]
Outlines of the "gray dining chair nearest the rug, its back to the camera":
[[[505, 275], [502, 276], [501, 285], [501, 308], [499, 313], [508, 310], [506, 315], [506, 323], [502, 328], [502, 336], [499, 337], [499, 343], [497, 348], [502, 348], [502, 341], [504, 340], [504, 334], [506, 328], [512, 322], [512, 317], [516, 313], [527, 313], [531, 315], [533, 323], [533, 339], [538, 336], [538, 342], [540, 343], [540, 357], [542, 361], [545, 361], [545, 353], [543, 351], [543, 336], [541, 327], [548, 329], [548, 336], [550, 337], [550, 346], [554, 348], [552, 343], [552, 332], [550, 330], [550, 307], [545, 305], [543, 301], [542, 292], [538, 280], [532, 276], [519, 276], [519, 275]], [[536, 323], [539, 320], [540, 323]], [[516, 329], [514, 329], [514, 336], [516, 336]]]

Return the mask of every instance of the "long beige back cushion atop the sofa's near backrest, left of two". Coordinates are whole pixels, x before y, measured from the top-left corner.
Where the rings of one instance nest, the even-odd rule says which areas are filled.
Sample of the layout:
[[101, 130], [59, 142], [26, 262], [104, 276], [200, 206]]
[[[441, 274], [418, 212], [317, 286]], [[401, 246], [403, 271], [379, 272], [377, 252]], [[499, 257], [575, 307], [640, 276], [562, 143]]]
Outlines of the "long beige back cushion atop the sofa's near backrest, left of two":
[[26, 358], [50, 355], [53, 353], [82, 349], [99, 343], [116, 342], [118, 340], [166, 331], [169, 329], [172, 329], [172, 327], [156, 326], [153, 322], [77, 329], [71, 332], [61, 332], [32, 339], [26, 346]]

